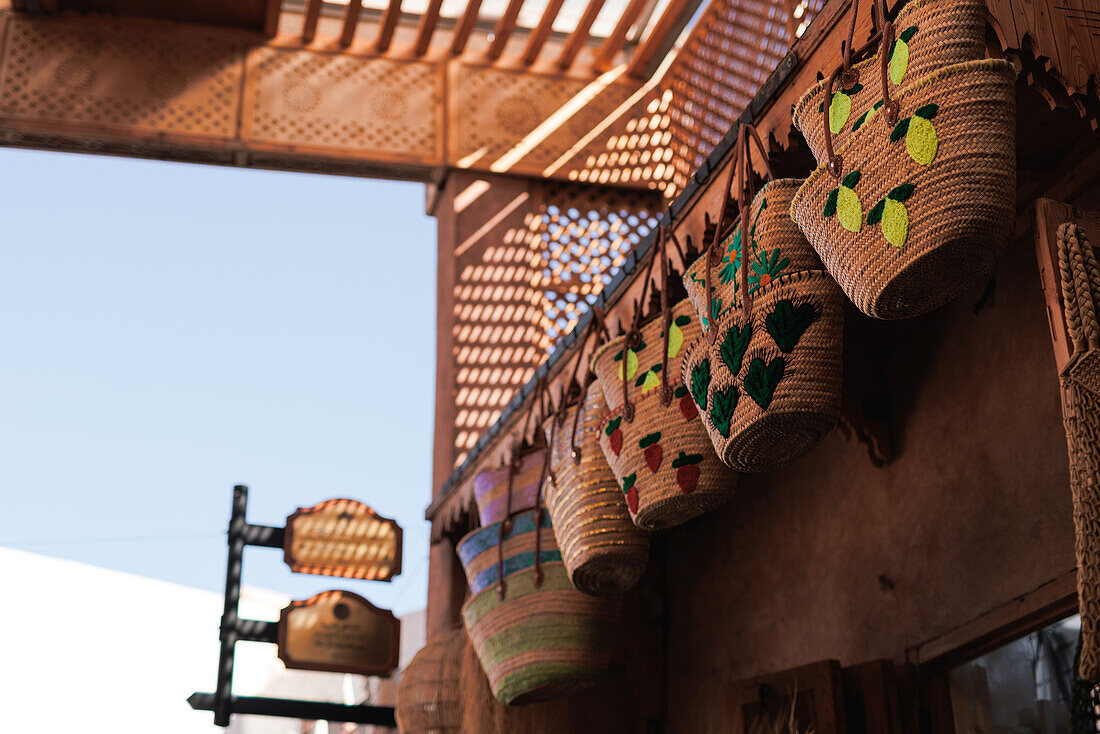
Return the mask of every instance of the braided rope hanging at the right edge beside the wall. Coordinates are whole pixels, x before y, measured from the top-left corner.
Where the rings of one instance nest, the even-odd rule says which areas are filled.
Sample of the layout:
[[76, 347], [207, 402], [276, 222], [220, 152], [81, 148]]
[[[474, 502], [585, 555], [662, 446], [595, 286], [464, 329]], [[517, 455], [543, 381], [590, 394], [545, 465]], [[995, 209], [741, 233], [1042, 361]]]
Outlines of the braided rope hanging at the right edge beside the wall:
[[1058, 228], [1066, 330], [1074, 352], [1062, 373], [1062, 410], [1074, 495], [1077, 591], [1081, 613], [1079, 672], [1100, 680], [1100, 266], [1076, 224]]

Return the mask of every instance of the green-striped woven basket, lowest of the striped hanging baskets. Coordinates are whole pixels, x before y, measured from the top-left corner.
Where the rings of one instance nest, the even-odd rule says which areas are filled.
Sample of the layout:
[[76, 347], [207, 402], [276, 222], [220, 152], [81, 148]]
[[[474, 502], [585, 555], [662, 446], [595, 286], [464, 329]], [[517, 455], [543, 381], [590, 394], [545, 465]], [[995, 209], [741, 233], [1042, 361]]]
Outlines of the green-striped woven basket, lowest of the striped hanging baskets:
[[519, 705], [564, 695], [596, 682], [607, 671], [618, 600], [582, 593], [565, 565], [540, 567], [505, 578], [462, 606], [466, 632], [493, 694]]

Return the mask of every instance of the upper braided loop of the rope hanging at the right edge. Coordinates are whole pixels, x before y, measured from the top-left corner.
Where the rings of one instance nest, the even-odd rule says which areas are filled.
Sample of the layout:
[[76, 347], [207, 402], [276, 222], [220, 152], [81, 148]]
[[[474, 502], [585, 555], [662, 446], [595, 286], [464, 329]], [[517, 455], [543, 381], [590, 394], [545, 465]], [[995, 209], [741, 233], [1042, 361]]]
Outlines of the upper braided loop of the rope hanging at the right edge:
[[1074, 222], [1058, 226], [1058, 272], [1062, 278], [1062, 300], [1066, 313], [1066, 331], [1074, 353], [1100, 349], [1100, 265], [1085, 230]]

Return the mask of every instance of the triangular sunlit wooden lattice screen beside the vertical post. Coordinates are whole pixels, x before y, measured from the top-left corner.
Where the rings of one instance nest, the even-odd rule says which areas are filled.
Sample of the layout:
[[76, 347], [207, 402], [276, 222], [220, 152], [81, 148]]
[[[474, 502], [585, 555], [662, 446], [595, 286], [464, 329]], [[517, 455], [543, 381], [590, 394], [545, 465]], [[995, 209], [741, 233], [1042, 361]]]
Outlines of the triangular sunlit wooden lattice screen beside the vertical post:
[[463, 223], [484, 234], [459, 243], [455, 263], [455, 464], [656, 226], [660, 201], [538, 180], [516, 194]]

